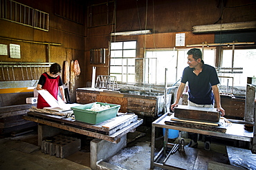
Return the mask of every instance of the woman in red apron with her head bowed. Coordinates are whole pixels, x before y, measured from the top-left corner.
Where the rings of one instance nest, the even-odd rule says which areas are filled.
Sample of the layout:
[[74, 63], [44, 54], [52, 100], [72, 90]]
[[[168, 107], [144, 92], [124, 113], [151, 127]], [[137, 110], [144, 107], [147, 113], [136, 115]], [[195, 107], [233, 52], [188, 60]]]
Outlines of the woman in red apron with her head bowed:
[[[62, 83], [62, 78], [60, 77], [60, 72], [62, 68], [58, 63], [54, 63], [50, 67], [50, 72], [44, 72], [37, 84], [37, 90], [45, 89], [57, 100], [57, 95], [60, 89], [60, 94], [62, 95], [62, 100], [66, 103], [66, 98], [64, 94], [64, 87]], [[44, 107], [50, 107], [46, 100], [38, 94], [37, 98], [37, 109], [43, 109]]]

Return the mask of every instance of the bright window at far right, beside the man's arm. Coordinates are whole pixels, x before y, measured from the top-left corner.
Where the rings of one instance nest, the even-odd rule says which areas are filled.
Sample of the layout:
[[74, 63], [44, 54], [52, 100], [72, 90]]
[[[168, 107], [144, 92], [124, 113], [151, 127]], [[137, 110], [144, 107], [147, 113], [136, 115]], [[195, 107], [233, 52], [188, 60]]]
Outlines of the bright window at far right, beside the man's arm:
[[[223, 50], [223, 56], [221, 61], [221, 67], [226, 68], [223, 72], [220, 72], [221, 76], [233, 77], [234, 86], [246, 87], [247, 77], [256, 76], [256, 72], [253, 71], [256, 63], [256, 50], [235, 50], [234, 63], [232, 66], [232, 50]], [[229, 70], [227, 70], [229, 68]], [[232, 70], [232, 68], [234, 70]], [[242, 69], [239, 69], [242, 68]], [[228, 85], [228, 78], [221, 78], [221, 84]], [[229, 86], [232, 82], [229, 82]]]

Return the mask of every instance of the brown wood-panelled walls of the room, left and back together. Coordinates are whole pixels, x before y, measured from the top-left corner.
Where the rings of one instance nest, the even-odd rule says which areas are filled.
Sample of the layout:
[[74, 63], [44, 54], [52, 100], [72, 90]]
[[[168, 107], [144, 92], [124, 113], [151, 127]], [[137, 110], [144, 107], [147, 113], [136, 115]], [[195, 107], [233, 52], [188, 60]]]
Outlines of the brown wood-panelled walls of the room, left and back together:
[[[75, 81], [75, 88], [86, 87], [87, 82], [91, 81], [93, 66], [97, 67], [96, 75], [109, 73], [109, 56], [107, 55], [105, 64], [91, 64], [91, 49], [109, 48], [109, 43], [113, 41], [136, 40], [138, 42], [137, 57], [143, 57], [145, 48], [174, 47], [175, 34], [181, 32], [186, 35], [185, 45], [205, 41], [214, 43], [214, 34], [193, 34], [193, 25], [256, 20], [256, 3], [253, 0], [116, 0], [116, 12], [113, 12], [116, 18], [113, 20], [113, 24], [88, 27], [89, 12], [87, 7], [108, 2], [107, 0], [75, 0], [84, 6], [84, 11], [81, 12], [81, 15], [84, 16], [84, 24], [75, 23], [55, 15], [55, 4], [62, 0], [17, 1], [26, 6], [48, 12], [50, 14], [50, 28], [48, 32], [44, 32], [0, 19], [0, 44], [15, 43], [21, 45], [21, 59], [0, 56], [0, 61], [46, 62], [48, 59], [47, 45], [27, 43], [22, 42], [22, 40], [60, 43], [61, 45], [50, 45], [51, 62], [62, 64], [64, 61], [70, 62], [75, 59], [79, 61], [81, 74]], [[66, 6], [70, 1], [66, 1]], [[62, 1], [62, 3], [64, 2]], [[221, 20], [219, 20], [220, 18]], [[145, 29], [152, 29], [153, 34], [110, 36], [111, 32]], [[4, 37], [13, 40], [3, 39]], [[15, 41], [15, 39], [21, 41]], [[21, 78], [20, 72], [15, 76]], [[1, 73], [0, 81], [3, 81]], [[71, 93], [71, 98], [75, 100], [75, 93]]]

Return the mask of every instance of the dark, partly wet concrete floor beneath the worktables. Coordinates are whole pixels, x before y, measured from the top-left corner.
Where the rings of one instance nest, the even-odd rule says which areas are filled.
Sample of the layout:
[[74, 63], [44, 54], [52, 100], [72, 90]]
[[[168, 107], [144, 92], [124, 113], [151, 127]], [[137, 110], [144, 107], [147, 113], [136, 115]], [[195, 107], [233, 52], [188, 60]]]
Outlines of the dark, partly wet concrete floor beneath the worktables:
[[[129, 133], [127, 135], [127, 147], [122, 149], [109, 160], [119, 169], [127, 170], [147, 170], [150, 167], [150, 145], [151, 129], [148, 127], [138, 128], [140, 131]], [[92, 138], [83, 140], [82, 149], [67, 158], [61, 159], [55, 156], [42, 153], [41, 148], [37, 147], [37, 133], [33, 131], [17, 137], [8, 137], [0, 139], [0, 169], [91, 169], [90, 168], [90, 151], [89, 141]], [[171, 140], [170, 142], [177, 142]], [[185, 139], [185, 144], [189, 140]], [[161, 148], [163, 138], [156, 141], [156, 146]], [[203, 149], [203, 142], [199, 141], [199, 149]], [[225, 156], [226, 145], [212, 142], [211, 151], [218, 151]], [[154, 169], [161, 169], [154, 167]], [[224, 169], [222, 169], [224, 170]]]

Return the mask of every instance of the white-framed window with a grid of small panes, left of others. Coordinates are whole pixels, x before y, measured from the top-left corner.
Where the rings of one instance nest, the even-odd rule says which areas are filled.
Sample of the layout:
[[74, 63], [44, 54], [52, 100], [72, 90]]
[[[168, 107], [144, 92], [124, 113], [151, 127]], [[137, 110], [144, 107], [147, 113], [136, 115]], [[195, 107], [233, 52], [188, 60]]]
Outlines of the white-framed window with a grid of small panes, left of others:
[[136, 41], [111, 43], [110, 76], [119, 82], [135, 83]]

